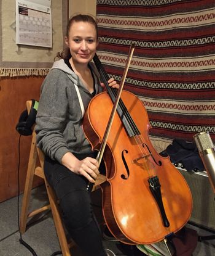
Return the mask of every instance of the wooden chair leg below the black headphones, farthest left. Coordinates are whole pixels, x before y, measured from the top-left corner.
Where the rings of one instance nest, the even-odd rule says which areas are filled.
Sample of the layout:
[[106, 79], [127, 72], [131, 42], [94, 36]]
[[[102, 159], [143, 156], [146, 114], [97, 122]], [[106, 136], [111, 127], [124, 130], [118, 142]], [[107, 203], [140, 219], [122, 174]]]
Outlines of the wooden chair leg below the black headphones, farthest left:
[[36, 167], [37, 160], [37, 150], [36, 150], [36, 134], [33, 133], [33, 138], [31, 141], [31, 150], [29, 154], [28, 169], [26, 173], [25, 189], [22, 199], [22, 211], [20, 215], [20, 232], [23, 234], [26, 231], [26, 224], [28, 218], [28, 207], [29, 199], [31, 196], [31, 189], [34, 178], [34, 170]]

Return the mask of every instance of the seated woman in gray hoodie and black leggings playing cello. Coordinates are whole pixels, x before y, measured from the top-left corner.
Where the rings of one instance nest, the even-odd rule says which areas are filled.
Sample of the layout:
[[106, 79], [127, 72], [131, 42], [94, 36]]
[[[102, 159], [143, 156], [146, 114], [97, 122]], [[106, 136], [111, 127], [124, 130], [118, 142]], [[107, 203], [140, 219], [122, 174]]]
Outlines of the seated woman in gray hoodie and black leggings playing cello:
[[[114, 255], [103, 248], [87, 192], [98, 174], [95, 152], [84, 136], [82, 117], [95, 94], [103, 91], [99, 74], [91, 62], [98, 46], [98, 27], [90, 15], [69, 19], [68, 49], [58, 53], [44, 80], [36, 118], [37, 146], [45, 154], [44, 171], [55, 190], [63, 221], [76, 244], [88, 256]], [[118, 88], [110, 79], [109, 86]]]

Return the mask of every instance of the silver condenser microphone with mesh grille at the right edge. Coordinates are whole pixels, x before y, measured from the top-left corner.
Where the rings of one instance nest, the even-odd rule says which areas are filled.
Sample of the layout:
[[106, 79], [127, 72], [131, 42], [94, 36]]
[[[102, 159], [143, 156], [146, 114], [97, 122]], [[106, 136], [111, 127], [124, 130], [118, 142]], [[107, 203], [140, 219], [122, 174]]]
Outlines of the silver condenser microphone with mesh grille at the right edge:
[[215, 193], [215, 150], [213, 141], [208, 131], [197, 133], [193, 138]]

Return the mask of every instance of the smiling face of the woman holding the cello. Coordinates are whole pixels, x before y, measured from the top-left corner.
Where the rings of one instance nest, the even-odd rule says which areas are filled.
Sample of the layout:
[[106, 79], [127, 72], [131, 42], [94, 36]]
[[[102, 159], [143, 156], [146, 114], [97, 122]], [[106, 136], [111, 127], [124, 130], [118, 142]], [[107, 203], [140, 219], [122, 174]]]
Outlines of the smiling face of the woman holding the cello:
[[98, 45], [96, 29], [88, 22], [73, 22], [65, 43], [70, 49], [74, 64], [88, 64]]

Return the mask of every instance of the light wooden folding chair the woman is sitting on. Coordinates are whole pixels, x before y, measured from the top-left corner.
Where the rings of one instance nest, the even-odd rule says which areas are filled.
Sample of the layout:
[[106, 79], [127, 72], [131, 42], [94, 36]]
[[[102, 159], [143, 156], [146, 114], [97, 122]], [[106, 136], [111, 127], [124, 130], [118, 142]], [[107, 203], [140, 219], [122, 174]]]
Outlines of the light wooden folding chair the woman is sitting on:
[[[31, 103], [32, 103], [31, 101], [26, 102], [28, 112], [31, 109]], [[39, 159], [40, 166], [36, 166], [37, 157]], [[69, 252], [69, 247], [71, 247], [71, 244], [69, 244], [68, 240], [66, 239], [65, 229], [61, 221], [60, 210], [58, 209], [58, 200], [57, 200], [57, 197], [55, 196], [55, 192], [49, 186], [49, 183], [45, 179], [43, 166], [44, 166], [44, 153], [36, 146], [36, 133], [35, 131], [33, 131], [32, 140], [31, 140], [31, 149], [30, 149], [29, 160], [28, 160], [28, 169], [26, 173], [25, 190], [24, 190], [23, 200], [22, 200], [22, 211], [20, 215], [20, 231], [22, 234], [25, 233], [28, 218], [33, 217], [38, 213], [44, 212], [45, 210], [51, 209], [52, 215], [53, 215], [53, 221], [55, 223], [55, 228], [57, 231], [58, 240], [60, 242], [61, 252], [63, 256], [71, 256]], [[49, 198], [49, 205], [45, 205], [44, 207], [33, 210], [33, 212], [29, 212], [29, 200], [31, 196], [31, 189], [33, 186], [34, 175], [44, 179], [45, 188]], [[106, 181], [106, 176], [100, 175], [96, 180], [95, 185], [93, 186], [93, 191], [100, 188], [99, 185], [104, 181]]]

